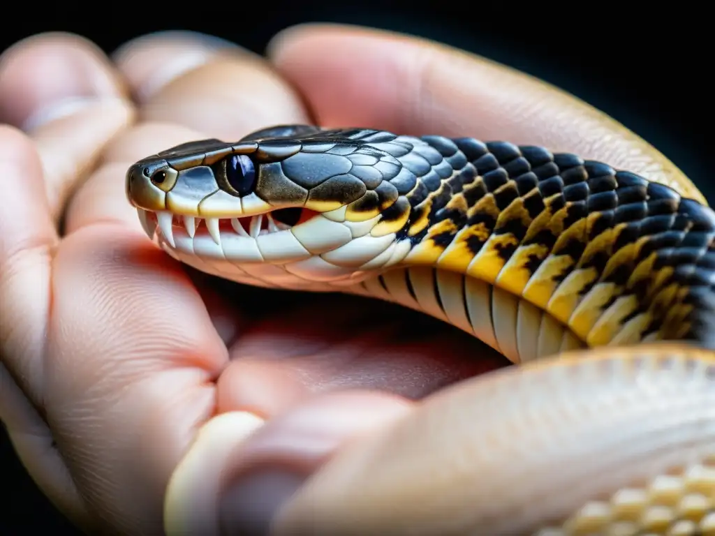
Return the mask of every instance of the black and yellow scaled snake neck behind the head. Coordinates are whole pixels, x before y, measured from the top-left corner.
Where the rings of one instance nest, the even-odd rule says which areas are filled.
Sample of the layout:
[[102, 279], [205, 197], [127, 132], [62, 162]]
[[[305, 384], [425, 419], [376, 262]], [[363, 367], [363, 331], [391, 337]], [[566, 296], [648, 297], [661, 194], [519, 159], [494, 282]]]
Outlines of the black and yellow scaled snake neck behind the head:
[[396, 137], [380, 149], [418, 178], [395, 229], [409, 252], [348, 292], [426, 312], [513, 362], [658, 340], [715, 348], [709, 208], [541, 147]]

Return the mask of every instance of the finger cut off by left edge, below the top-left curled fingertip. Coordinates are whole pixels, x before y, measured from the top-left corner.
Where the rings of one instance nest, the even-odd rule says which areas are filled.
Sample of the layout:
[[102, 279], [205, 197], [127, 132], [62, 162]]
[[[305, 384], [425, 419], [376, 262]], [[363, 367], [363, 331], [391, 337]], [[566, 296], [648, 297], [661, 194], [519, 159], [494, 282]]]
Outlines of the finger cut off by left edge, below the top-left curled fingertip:
[[0, 126], [0, 341], [2, 359], [38, 407], [58, 237], [49, 219], [42, 169], [31, 140]]

